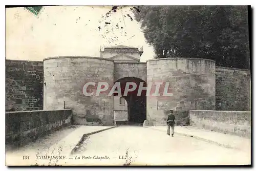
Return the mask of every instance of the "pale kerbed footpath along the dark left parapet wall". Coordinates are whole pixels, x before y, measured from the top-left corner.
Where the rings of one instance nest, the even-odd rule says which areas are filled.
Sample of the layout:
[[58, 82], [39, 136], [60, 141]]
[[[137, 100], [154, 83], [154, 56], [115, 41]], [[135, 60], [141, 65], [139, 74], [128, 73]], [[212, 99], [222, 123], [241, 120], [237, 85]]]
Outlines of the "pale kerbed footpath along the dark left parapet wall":
[[[55, 165], [58, 160], [37, 160], [37, 156], [57, 156], [70, 155], [72, 149], [81, 140], [84, 134], [90, 134], [112, 126], [85, 126], [71, 125], [62, 130], [51, 133], [35, 142], [30, 142], [26, 146], [18, 149], [8, 149], [6, 151], [6, 164], [8, 165]], [[28, 160], [23, 160], [23, 156], [29, 156]]]

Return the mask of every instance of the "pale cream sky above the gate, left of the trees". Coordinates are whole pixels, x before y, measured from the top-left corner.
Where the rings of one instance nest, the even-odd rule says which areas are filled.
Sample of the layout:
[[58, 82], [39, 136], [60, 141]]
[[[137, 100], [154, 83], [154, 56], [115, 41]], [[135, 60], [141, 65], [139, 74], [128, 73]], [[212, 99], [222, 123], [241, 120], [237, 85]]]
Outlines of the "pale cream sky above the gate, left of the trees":
[[[48, 6], [38, 16], [6, 8], [6, 59], [37, 60], [53, 56], [99, 57], [100, 47], [143, 47], [141, 62], [154, 58], [131, 7]], [[111, 11], [111, 13], [108, 13]], [[130, 16], [129, 16], [130, 15]]]

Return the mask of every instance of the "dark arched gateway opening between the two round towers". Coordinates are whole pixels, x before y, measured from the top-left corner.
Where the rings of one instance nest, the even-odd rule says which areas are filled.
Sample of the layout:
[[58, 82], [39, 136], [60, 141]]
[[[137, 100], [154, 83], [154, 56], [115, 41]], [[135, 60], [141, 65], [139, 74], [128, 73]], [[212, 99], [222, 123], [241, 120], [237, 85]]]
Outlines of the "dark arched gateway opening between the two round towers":
[[[125, 94], [125, 86], [127, 83], [133, 82], [136, 84], [136, 89], [127, 92]], [[124, 77], [121, 79], [118, 79], [115, 81], [115, 83], [120, 83], [121, 87], [121, 97], [123, 97], [127, 102], [127, 111], [123, 111], [123, 113], [115, 113], [115, 115], [123, 115], [122, 116], [116, 116], [116, 122], [125, 122], [126, 124], [137, 124], [137, 123], [143, 123], [144, 120], [146, 120], [146, 91], [142, 90], [141, 94], [138, 95], [138, 90], [140, 84], [143, 84], [143, 87], [146, 87], [146, 82], [140, 78], [136, 77]], [[128, 84], [129, 86], [129, 84]], [[134, 86], [130, 85], [129, 88], [133, 89]], [[127, 89], [127, 88], [126, 88]], [[114, 98], [118, 96], [118, 93], [114, 93]], [[123, 105], [119, 100], [118, 103], [114, 102], [114, 108], [115, 106]], [[125, 116], [126, 112], [126, 116]]]

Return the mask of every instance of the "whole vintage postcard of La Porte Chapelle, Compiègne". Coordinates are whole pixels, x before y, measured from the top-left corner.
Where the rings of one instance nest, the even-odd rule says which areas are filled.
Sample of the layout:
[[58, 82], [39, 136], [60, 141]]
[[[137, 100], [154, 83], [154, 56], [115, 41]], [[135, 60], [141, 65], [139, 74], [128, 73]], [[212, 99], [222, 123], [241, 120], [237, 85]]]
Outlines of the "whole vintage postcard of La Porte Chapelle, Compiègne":
[[250, 6], [7, 6], [7, 166], [251, 165]]

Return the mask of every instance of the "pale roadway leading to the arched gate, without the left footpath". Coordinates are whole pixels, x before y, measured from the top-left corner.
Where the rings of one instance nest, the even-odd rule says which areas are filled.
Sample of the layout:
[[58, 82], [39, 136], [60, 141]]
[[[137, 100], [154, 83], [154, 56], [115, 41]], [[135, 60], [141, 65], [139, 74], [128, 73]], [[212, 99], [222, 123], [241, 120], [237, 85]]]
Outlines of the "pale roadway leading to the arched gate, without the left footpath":
[[[86, 165], [233, 165], [250, 164], [250, 151], [139, 126], [119, 126], [91, 135], [74, 157], [108, 156], [109, 159], [84, 159]], [[118, 159], [122, 156], [126, 159]], [[116, 158], [116, 159], [115, 159]], [[81, 160], [73, 164], [81, 165]]]

